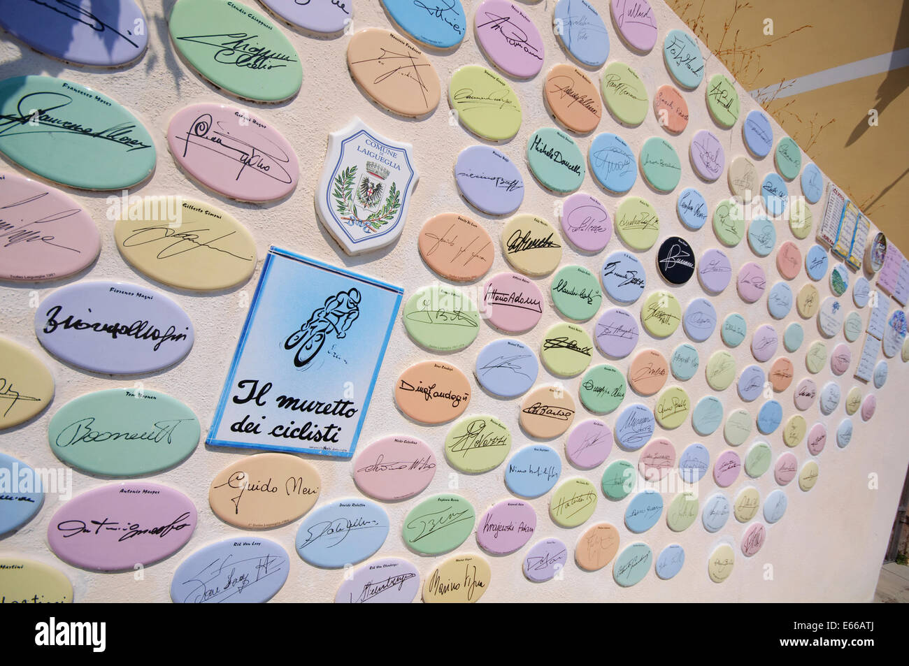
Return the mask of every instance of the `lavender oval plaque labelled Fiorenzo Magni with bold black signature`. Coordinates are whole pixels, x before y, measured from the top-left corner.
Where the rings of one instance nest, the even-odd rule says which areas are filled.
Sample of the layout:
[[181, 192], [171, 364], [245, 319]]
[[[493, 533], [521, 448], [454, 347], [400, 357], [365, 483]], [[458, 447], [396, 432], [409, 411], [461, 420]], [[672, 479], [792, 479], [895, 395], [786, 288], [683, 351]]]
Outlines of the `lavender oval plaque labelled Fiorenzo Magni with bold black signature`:
[[83, 282], [50, 293], [35, 334], [66, 363], [95, 373], [151, 373], [193, 346], [193, 323], [163, 293], [129, 283]]

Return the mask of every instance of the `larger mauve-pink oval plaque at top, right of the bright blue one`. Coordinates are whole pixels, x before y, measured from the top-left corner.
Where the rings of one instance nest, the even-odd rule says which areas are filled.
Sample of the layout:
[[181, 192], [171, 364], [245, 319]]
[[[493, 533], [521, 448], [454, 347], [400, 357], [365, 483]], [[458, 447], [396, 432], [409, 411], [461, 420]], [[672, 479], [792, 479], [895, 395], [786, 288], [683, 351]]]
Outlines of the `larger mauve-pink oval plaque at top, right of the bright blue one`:
[[529, 79], [543, 67], [543, 37], [524, 12], [506, 0], [485, 0], [474, 14], [484, 55], [506, 75]]

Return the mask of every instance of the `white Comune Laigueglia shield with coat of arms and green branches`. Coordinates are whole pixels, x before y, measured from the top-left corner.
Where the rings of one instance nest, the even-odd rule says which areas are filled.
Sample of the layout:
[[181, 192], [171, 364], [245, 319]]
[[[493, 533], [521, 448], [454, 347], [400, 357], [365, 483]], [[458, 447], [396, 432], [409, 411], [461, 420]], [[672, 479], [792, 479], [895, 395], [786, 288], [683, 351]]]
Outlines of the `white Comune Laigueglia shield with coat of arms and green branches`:
[[345, 253], [395, 243], [404, 230], [417, 173], [414, 146], [385, 138], [362, 120], [328, 136], [315, 209]]

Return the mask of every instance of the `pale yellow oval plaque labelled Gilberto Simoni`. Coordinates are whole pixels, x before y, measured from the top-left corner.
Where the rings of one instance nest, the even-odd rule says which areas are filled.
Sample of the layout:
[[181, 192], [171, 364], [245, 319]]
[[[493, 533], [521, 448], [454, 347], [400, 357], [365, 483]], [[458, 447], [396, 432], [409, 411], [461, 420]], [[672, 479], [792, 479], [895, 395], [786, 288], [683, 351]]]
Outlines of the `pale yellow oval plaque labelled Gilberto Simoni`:
[[181, 197], [174, 219], [162, 219], [163, 199], [145, 197], [117, 220], [114, 240], [127, 263], [159, 283], [194, 291], [229, 289], [252, 277], [255, 240], [233, 215]]

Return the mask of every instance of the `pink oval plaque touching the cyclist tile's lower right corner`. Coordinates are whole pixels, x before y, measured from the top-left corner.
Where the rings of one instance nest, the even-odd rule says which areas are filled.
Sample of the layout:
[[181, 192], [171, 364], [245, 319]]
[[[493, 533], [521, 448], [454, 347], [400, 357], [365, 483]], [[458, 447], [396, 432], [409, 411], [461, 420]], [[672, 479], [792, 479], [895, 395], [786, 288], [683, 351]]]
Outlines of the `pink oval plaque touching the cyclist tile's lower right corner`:
[[354, 462], [356, 487], [376, 500], [405, 500], [435, 476], [435, 454], [423, 440], [393, 435], [367, 446]]

